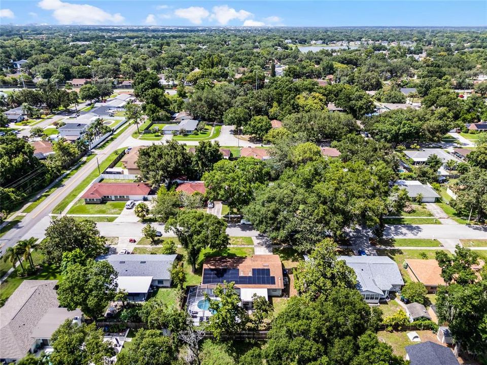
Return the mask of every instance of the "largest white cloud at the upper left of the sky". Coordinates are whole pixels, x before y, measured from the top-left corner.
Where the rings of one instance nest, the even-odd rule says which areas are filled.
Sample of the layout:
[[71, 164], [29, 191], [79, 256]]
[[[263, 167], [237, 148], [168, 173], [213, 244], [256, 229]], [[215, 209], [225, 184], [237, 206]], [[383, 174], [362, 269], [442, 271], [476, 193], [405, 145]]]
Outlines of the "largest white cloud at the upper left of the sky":
[[53, 10], [52, 16], [59, 24], [117, 24], [125, 18], [120, 14], [110, 14], [88, 4], [71, 4], [60, 0], [42, 0], [38, 6], [44, 10]]

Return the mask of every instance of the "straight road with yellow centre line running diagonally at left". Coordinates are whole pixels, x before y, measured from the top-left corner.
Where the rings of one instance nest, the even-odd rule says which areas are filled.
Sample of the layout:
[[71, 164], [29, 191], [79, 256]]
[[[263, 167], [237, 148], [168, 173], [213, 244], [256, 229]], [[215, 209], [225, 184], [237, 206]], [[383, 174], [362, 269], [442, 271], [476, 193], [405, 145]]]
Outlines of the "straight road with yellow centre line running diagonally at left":
[[[101, 163], [109, 155], [120, 147], [122, 143], [136, 130], [132, 125], [127, 128], [116, 140], [112, 141], [105, 149], [97, 154], [98, 161]], [[43, 237], [41, 232], [49, 224], [49, 213], [59, 204], [69, 193], [73, 191], [89, 173], [96, 168], [96, 158], [86, 163], [77, 173], [65, 181], [64, 185], [56, 189], [54, 193], [48, 196], [41, 204], [34, 208], [30, 213], [24, 216], [22, 221], [8, 231], [0, 238], [2, 254], [8, 247], [17, 243], [17, 241], [29, 237]], [[57, 212], [54, 212], [57, 213]], [[36, 227], [39, 226], [39, 227]]]

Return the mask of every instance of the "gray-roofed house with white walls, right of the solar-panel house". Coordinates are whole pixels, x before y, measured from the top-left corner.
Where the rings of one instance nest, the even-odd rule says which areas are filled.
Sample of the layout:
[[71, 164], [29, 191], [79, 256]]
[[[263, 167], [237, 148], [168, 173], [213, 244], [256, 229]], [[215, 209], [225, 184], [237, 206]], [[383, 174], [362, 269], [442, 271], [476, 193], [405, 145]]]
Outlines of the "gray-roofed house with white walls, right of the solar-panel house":
[[397, 264], [386, 256], [340, 256], [357, 275], [357, 289], [367, 303], [379, 303], [404, 285]]

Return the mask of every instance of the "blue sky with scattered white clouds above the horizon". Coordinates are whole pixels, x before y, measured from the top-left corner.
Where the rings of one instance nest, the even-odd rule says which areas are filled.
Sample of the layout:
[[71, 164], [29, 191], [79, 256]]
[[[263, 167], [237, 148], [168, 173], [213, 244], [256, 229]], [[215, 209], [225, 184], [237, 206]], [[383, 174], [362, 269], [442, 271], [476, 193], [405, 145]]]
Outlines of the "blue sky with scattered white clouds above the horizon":
[[486, 0], [2, 0], [0, 24], [485, 26]]

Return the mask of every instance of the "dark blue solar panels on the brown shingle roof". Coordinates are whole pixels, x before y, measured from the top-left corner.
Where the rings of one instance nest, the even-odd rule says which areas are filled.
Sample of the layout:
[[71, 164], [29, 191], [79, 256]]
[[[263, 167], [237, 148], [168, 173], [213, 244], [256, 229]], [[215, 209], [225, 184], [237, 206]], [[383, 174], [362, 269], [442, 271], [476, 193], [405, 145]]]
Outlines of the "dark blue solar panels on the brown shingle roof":
[[238, 269], [205, 269], [203, 284], [218, 284], [233, 281], [235, 284], [268, 284], [275, 285], [275, 277], [270, 276], [269, 269], [252, 269], [252, 276], [240, 276]]

